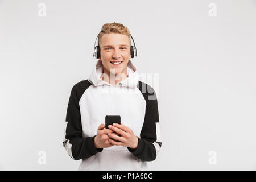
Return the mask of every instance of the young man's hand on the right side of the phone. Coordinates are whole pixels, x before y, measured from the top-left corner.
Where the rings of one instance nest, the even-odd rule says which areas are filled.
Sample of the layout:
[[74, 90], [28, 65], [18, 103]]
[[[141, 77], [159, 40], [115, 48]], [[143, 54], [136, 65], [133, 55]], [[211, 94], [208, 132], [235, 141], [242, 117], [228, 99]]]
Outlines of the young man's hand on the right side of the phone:
[[[138, 137], [134, 135], [133, 130], [129, 129], [129, 127], [121, 124], [114, 123], [113, 126], [109, 125], [109, 129], [115, 131], [118, 135], [114, 135], [113, 133], [108, 133], [108, 136], [111, 138], [109, 139], [109, 143], [116, 145], [116, 146], [124, 146], [130, 148], [137, 148], [138, 147]], [[117, 140], [114, 141], [113, 139]]]

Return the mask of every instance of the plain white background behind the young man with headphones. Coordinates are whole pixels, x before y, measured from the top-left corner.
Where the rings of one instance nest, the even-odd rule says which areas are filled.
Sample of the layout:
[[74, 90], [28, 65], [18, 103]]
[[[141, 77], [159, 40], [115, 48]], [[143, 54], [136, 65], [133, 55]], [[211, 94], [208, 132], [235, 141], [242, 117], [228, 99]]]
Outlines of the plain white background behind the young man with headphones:
[[97, 61], [102, 25], [118, 22], [138, 72], [159, 74], [163, 146], [150, 169], [255, 170], [255, 10], [254, 0], [0, 1], [0, 169], [77, 170], [62, 144], [69, 94]]

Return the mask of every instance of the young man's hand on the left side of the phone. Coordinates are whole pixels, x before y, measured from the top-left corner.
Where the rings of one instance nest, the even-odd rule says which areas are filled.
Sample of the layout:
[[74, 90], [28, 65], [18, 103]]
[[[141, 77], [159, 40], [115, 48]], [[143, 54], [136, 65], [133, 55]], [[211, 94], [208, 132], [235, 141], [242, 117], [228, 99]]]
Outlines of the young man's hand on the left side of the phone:
[[[108, 133], [113, 133], [113, 131], [110, 129], [105, 129], [104, 124], [101, 124], [98, 127], [97, 135], [94, 138], [94, 144], [96, 148], [108, 148], [113, 146], [113, 144], [109, 142]], [[113, 135], [118, 135], [118, 134], [113, 134]]]

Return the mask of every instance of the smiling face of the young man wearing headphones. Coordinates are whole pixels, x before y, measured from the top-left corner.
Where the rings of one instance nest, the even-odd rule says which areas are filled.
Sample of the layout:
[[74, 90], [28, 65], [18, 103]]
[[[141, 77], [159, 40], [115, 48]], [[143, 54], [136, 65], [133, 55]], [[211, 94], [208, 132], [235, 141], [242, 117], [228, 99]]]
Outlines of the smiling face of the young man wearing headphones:
[[104, 73], [124, 73], [127, 75], [127, 64], [131, 58], [130, 39], [123, 34], [104, 34], [100, 39], [100, 58]]

